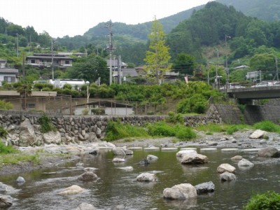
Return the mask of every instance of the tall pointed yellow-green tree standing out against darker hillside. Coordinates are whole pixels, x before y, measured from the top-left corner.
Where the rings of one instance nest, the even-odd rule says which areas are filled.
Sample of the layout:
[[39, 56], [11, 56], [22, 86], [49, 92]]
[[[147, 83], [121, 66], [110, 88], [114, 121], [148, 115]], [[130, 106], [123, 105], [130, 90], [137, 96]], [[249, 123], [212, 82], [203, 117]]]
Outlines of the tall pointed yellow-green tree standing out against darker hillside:
[[169, 64], [169, 47], [165, 45], [165, 32], [162, 30], [162, 25], [155, 18], [151, 29], [149, 50], [146, 51], [146, 78], [152, 83], [160, 84], [160, 79], [165, 75], [165, 72], [170, 71]]

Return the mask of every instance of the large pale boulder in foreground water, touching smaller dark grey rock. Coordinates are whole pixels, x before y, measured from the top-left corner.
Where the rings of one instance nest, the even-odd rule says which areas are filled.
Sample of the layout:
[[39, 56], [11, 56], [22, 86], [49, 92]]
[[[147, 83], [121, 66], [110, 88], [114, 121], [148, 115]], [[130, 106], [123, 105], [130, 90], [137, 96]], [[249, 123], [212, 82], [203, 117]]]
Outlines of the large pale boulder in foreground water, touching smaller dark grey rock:
[[190, 183], [181, 183], [163, 190], [163, 197], [170, 200], [185, 200], [197, 197], [197, 190]]

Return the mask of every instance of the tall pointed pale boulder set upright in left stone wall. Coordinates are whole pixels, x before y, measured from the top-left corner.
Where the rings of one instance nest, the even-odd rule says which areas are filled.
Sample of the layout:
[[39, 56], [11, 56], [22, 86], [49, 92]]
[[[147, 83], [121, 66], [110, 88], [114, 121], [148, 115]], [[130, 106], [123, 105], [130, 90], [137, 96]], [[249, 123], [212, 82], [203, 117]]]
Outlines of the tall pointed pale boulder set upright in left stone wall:
[[29, 119], [26, 118], [25, 121], [20, 123], [19, 131], [19, 146], [31, 146], [34, 144], [36, 135]]

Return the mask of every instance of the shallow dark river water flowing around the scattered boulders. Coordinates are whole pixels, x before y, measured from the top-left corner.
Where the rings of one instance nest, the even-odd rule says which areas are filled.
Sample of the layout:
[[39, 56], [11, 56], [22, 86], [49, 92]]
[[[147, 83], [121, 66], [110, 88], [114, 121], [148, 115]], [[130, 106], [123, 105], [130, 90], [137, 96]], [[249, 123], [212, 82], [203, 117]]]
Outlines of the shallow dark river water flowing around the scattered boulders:
[[[82, 202], [92, 204], [97, 209], [113, 209], [123, 204], [125, 209], [242, 209], [251, 195], [275, 190], [280, 193], [280, 162], [278, 159], [260, 159], [256, 153], [201, 151], [207, 155], [209, 163], [205, 165], [181, 165], [176, 158], [177, 151], [134, 151], [127, 156], [124, 163], [113, 163], [111, 151], [100, 151], [98, 155], [84, 155], [80, 160], [84, 167], [95, 167], [97, 181], [78, 181], [77, 176], [83, 169], [76, 167], [76, 162], [63, 167], [37, 170], [29, 174], [2, 176], [1, 182], [13, 186], [16, 190], [11, 196], [15, 198], [12, 209], [76, 209]], [[158, 156], [150, 165], [138, 165], [148, 154]], [[235, 155], [242, 155], [255, 164], [251, 169], [239, 169], [237, 162], [230, 160]], [[221, 182], [216, 169], [222, 163], [229, 163], [237, 168], [237, 180]], [[132, 166], [132, 172], [120, 167]], [[139, 183], [136, 177], [142, 172], [156, 172], [158, 182]], [[15, 182], [23, 176], [25, 184], [18, 186]], [[180, 183], [193, 186], [213, 181], [214, 193], [198, 195], [194, 200], [170, 201], [163, 199], [163, 190]], [[72, 185], [85, 188], [79, 195], [57, 195], [62, 189]]]

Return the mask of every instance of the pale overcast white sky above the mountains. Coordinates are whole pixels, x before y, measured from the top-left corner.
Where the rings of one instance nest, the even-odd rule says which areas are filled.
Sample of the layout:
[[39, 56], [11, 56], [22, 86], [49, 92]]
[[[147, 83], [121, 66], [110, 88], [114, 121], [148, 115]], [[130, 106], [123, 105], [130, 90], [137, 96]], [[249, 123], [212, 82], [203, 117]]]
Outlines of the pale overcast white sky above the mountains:
[[136, 25], [210, 0], [0, 0], [0, 17], [52, 38], [83, 35], [100, 22]]

